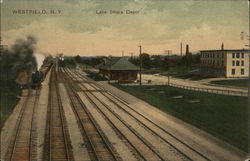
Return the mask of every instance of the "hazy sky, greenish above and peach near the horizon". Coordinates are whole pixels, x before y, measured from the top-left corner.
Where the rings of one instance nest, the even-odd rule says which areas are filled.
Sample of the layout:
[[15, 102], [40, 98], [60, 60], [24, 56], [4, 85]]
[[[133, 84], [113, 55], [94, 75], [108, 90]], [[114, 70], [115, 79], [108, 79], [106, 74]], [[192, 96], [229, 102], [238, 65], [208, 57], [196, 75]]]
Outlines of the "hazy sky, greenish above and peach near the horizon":
[[248, 14], [247, 0], [1, 0], [1, 39], [11, 45], [33, 35], [36, 53], [81, 56], [138, 55], [139, 45], [149, 54], [179, 54], [181, 42], [183, 53], [186, 44], [193, 52], [222, 42], [242, 49]]

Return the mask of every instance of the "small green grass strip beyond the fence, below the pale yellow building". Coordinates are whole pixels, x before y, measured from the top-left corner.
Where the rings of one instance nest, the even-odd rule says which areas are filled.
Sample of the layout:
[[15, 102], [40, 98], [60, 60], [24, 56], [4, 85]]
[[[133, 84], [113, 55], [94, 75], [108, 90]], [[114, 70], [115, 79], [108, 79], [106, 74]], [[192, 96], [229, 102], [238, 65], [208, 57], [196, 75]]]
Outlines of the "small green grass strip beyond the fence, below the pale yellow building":
[[218, 80], [211, 81], [212, 84], [226, 85], [226, 86], [237, 86], [237, 87], [248, 87], [248, 79], [233, 79], [233, 80]]

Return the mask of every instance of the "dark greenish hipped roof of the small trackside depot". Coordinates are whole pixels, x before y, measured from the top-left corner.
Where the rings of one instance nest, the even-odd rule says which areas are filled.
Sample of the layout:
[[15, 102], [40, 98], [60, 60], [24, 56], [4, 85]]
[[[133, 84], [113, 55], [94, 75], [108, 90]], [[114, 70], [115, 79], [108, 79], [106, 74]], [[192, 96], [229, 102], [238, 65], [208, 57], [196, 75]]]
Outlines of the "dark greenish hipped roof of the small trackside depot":
[[104, 70], [139, 70], [137, 66], [129, 62], [126, 58], [112, 57], [106, 63], [99, 65], [99, 69]]

